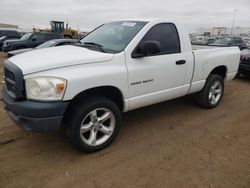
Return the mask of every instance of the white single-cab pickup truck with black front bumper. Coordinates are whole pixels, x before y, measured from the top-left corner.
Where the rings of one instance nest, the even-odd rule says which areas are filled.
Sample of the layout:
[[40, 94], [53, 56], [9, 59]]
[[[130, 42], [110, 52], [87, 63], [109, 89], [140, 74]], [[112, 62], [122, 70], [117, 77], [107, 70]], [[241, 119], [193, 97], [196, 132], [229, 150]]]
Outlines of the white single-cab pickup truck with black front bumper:
[[192, 50], [176, 21], [111, 22], [77, 46], [6, 60], [3, 100], [24, 129], [52, 131], [63, 124], [75, 146], [94, 152], [114, 140], [122, 112], [191, 93], [204, 108], [216, 107], [239, 60], [238, 47]]

